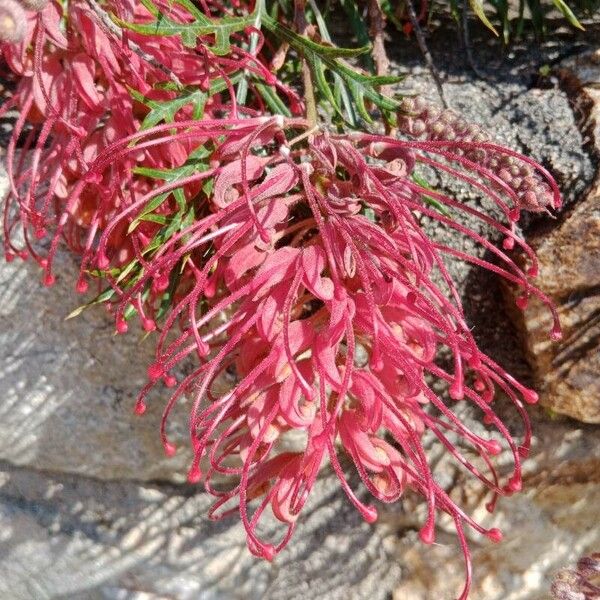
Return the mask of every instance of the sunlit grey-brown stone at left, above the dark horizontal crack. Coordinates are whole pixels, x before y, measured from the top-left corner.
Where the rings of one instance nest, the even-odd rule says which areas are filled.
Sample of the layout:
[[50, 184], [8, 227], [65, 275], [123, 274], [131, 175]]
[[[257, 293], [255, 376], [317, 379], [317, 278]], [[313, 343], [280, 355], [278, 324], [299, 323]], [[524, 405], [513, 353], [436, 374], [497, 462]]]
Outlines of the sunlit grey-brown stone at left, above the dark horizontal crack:
[[[152, 341], [117, 338], [102, 309], [65, 321], [83, 299], [69, 257], [59, 256], [57, 273], [46, 289], [37, 265], [0, 266], [0, 459], [105, 479], [183, 481], [185, 452], [168, 459], [157, 435], [161, 398], [144, 418], [133, 413]], [[185, 409], [179, 437], [184, 423]]]

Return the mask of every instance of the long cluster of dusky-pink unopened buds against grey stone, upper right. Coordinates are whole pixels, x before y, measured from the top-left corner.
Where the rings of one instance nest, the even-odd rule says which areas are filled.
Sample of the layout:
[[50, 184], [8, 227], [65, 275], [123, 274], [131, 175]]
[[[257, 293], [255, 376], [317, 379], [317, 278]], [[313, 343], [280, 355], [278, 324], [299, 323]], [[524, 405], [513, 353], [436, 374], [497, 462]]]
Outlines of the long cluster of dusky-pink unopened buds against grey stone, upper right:
[[473, 144], [472, 147], [452, 146], [449, 150], [489, 169], [515, 192], [519, 208], [540, 212], [552, 203], [548, 186], [529, 165], [507, 154], [478, 146], [493, 143], [490, 136], [452, 110], [442, 110], [423, 98], [404, 98], [400, 105], [398, 129], [413, 138]]

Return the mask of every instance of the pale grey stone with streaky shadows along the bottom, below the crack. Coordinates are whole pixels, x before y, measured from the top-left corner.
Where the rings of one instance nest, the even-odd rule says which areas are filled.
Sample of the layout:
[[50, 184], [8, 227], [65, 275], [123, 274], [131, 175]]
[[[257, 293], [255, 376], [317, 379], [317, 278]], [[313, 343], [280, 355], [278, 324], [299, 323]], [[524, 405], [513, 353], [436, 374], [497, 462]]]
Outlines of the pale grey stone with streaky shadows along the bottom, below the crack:
[[384, 600], [393, 536], [320, 481], [294, 544], [253, 558], [241, 524], [188, 486], [99, 481], [0, 462], [3, 600]]

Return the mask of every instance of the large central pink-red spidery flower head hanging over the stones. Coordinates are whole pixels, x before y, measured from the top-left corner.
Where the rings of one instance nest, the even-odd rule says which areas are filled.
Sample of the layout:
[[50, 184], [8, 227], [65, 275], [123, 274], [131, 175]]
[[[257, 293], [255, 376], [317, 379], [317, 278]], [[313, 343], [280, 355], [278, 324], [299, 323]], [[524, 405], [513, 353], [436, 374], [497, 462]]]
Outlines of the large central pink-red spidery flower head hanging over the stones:
[[[131, 286], [115, 286], [119, 319], [141, 291], [164, 289], [160, 282], [172, 281], [186, 257], [183, 274], [188, 283], [175, 293], [174, 309], [161, 326], [147, 386], [161, 378], [173, 385], [170, 371], [196, 355], [198, 366], [178, 384], [164, 413], [166, 452], [175, 451], [167, 436], [168, 417], [177, 400], [192, 393], [190, 442], [195, 458], [189, 479], [203, 481], [216, 497], [212, 518], [239, 512], [250, 550], [268, 559], [290, 539], [326, 463], [363, 517], [369, 522], [377, 518], [375, 506], [362, 502], [350, 488], [339, 456], [345, 454], [377, 500], [395, 501], [407, 487], [423, 494], [429, 507], [421, 530], [425, 542], [434, 540], [438, 510], [453, 517], [467, 560], [466, 597], [470, 558], [464, 526], [494, 541], [500, 534], [483, 529], [439, 487], [422, 434], [431, 431], [458, 463], [490, 488], [493, 509], [498, 496], [521, 486], [521, 459], [530, 443], [523, 403], [535, 402], [536, 395], [479, 351], [442, 255], [489, 268], [519, 285], [525, 297], [534, 294], [548, 301], [503, 250], [430, 208], [423, 197], [433, 195], [454, 210], [478, 216], [506, 236], [505, 246], [518, 245], [530, 257], [531, 251], [516, 237], [512, 221], [496, 222], [413, 182], [415, 162], [430, 164], [431, 154], [438, 151], [435, 145], [322, 134], [307, 148], [295, 150], [264, 146], [260, 132], [268, 131], [271, 139], [278, 136], [278, 119], [229, 120], [220, 122], [218, 131], [210, 120], [195, 127], [198, 136], [204, 132], [215, 141], [221, 136], [214, 151], [221, 162], [214, 162], [215, 183], [204, 217], [165, 242]], [[258, 148], [262, 150], [255, 154]], [[493, 150], [508, 152], [496, 146]], [[439, 152], [445, 161], [440, 164], [454, 169], [447, 166], [449, 152]], [[100, 155], [96, 164], [102, 160]], [[456, 162], [466, 164], [460, 154]], [[190, 181], [208, 174], [193, 175]], [[495, 184], [484, 167], [462, 177], [468, 183], [487, 178]], [[477, 186], [506, 209], [507, 218], [514, 218], [514, 194]], [[131, 223], [148, 198], [173, 187], [154, 189], [117, 214], [100, 236], [99, 256], [118, 223]], [[497, 263], [431, 240], [417, 221], [417, 211], [470, 236], [493, 251]], [[535, 263], [529, 272], [535, 272]], [[450, 298], [436, 277], [450, 289]], [[144, 310], [154, 310], [152, 304], [147, 300]], [[176, 322], [183, 323], [177, 334]], [[452, 353], [452, 371], [435, 362], [441, 347]], [[219, 395], [213, 390], [226, 370], [236, 373], [237, 382]], [[431, 378], [447, 386], [452, 403], [433, 391]], [[523, 418], [525, 437], [520, 443], [494, 412], [496, 389]], [[481, 411], [491, 428], [488, 435], [467, 428], [454, 412], [457, 401]], [[144, 407], [145, 392], [138, 412]], [[460, 447], [450, 433], [461, 438]], [[290, 450], [298, 440], [300, 448]], [[485, 470], [469, 459], [463, 446], [481, 457]], [[500, 478], [493, 457], [503, 447], [512, 452], [514, 468]], [[222, 478], [229, 485], [223, 487]], [[258, 533], [268, 507], [285, 525], [278, 540], [261, 539]]]

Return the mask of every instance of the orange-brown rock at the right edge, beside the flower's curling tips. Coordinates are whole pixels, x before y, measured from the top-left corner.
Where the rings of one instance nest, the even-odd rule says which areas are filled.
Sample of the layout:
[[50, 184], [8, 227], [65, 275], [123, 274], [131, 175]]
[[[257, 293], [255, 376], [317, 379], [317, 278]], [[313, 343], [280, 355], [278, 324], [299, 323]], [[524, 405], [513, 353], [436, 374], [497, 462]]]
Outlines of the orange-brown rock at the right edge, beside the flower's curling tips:
[[[600, 156], [600, 51], [566, 61], [560, 73], [587, 101], [586, 129]], [[557, 227], [542, 227], [530, 242], [540, 261], [536, 283], [563, 326], [561, 342], [549, 342], [548, 311], [537, 299], [517, 317], [541, 403], [600, 423], [600, 177]]]

